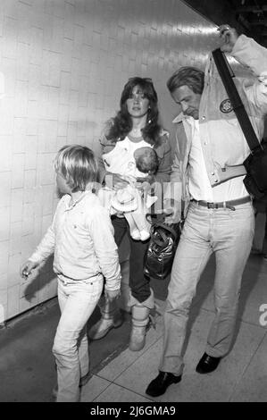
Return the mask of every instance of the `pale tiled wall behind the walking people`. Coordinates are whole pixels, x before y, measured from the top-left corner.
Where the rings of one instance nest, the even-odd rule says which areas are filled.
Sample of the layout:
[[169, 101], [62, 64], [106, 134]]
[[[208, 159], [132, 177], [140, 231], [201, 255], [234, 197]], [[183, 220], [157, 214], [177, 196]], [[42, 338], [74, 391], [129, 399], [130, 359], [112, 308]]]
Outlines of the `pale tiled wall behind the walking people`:
[[52, 220], [55, 152], [97, 153], [134, 75], [153, 78], [171, 130], [165, 82], [204, 65], [215, 29], [179, 0], [0, 0], [0, 323], [56, 293], [51, 261], [31, 282], [19, 276]]

